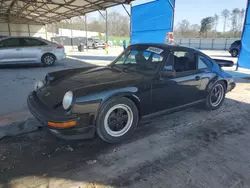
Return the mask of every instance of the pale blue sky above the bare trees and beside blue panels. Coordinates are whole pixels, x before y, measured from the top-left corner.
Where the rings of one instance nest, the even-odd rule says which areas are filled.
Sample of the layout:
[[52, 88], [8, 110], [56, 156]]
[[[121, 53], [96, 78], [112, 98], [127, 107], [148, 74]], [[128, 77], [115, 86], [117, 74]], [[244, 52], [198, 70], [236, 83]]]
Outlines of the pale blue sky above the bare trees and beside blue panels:
[[[136, 0], [133, 3], [133, 6], [147, 1], [154, 0]], [[201, 19], [204, 17], [213, 16], [214, 14], [220, 16], [224, 9], [232, 10], [233, 8], [246, 8], [246, 4], [247, 0], [176, 0], [174, 24], [176, 25], [183, 19], [187, 19], [190, 24], [200, 24]], [[126, 7], [130, 12], [130, 7]], [[126, 15], [126, 12], [121, 5], [109, 8], [108, 11], [117, 11]], [[98, 15], [98, 13], [91, 14], [92, 16]], [[222, 31], [222, 28], [223, 23], [222, 19], [220, 19], [218, 30]]]

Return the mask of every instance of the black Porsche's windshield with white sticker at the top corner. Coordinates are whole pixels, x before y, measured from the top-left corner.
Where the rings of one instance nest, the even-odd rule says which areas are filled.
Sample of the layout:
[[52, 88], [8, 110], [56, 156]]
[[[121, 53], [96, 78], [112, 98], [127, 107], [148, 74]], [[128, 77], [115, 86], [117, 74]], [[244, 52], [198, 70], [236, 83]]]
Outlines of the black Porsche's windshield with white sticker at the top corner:
[[154, 74], [159, 65], [164, 61], [164, 50], [158, 47], [127, 48], [116, 59], [111, 67], [121, 68], [126, 71], [138, 71]]

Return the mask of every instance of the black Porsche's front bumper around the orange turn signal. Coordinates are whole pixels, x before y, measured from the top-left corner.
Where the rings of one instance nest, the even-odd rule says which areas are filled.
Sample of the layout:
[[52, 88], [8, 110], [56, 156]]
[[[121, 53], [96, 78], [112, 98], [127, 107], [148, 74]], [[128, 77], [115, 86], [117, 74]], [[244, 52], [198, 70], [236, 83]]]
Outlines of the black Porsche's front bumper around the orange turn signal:
[[[56, 110], [49, 109], [36, 96], [35, 92], [29, 94], [27, 104], [33, 116], [46, 126], [51, 133], [63, 139], [89, 139], [95, 135], [93, 118], [88, 114], [64, 115]], [[55, 128], [48, 122], [63, 123], [76, 121], [76, 125], [70, 128]]]

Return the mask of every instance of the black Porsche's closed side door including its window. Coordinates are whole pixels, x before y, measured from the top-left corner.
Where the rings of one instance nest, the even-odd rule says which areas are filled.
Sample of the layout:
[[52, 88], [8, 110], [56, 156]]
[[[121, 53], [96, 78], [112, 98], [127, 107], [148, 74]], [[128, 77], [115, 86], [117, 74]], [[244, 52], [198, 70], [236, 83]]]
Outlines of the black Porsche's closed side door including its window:
[[[173, 71], [173, 75], [168, 72]], [[169, 54], [160, 79], [152, 85], [154, 111], [163, 111], [199, 100], [201, 74], [197, 70], [197, 53], [190, 49], [173, 50]]]

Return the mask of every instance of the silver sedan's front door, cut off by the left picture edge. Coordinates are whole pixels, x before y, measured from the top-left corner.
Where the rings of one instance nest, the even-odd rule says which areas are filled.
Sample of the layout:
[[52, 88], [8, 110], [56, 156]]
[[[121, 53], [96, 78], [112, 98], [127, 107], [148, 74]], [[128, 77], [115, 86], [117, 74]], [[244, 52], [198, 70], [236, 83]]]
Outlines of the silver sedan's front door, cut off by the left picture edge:
[[0, 64], [16, 64], [22, 62], [19, 38], [7, 38], [0, 41]]

